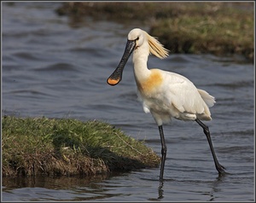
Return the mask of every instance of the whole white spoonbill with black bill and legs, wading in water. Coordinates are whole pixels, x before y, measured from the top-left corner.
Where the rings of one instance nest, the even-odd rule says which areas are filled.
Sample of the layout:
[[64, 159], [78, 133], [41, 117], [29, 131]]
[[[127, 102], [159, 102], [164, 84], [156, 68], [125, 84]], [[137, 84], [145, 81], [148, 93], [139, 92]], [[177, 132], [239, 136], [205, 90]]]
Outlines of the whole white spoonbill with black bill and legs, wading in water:
[[162, 125], [173, 118], [180, 120], [195, 120], [207, 136], [212, 151], [212, 157], [219, 175], [224, 173], [224, 166], [218, 163], [212, 146], [210, 131], [201, 120], [211, 120], [209, 107], [215, 103], [214, 97], [207, 91], [200, 90], [177, 73], [160, 69], [148, 69], [148, 55], [153, 54], [160, 59], [166, 58], [168, 50], [147, 32], [135, 28], [128, 34], [125, 53], [119, 66], [108, 78], [108, 84], [119, 84], [125, 63], [133, 52], [134, 77], [137, 83], [137, 95], [143, 103], [145, 113], [151, 113], [160, 131], [161, 166], [160, 182], [163, 182], [166, 161], [166, 142]]

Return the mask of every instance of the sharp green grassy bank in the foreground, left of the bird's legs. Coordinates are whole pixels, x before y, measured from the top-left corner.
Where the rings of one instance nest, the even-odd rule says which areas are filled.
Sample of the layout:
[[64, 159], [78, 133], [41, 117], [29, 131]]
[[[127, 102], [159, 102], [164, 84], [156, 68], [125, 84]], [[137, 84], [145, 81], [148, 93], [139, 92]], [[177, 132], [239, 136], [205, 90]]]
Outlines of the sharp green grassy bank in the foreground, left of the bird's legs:
[[112, 125], [77, 119], [2, 118], [6, 176], [102, 174], [156, 167], [153, 150]]

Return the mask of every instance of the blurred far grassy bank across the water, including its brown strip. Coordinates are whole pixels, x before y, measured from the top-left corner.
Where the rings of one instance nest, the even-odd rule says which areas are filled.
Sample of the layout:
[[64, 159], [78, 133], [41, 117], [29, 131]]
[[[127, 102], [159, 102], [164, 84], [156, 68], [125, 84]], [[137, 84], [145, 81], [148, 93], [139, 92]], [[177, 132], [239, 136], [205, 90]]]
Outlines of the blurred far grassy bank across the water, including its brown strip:
[[58, 14], [141, 21], [172, 53], [243, 55], [253, 62], [253, 2], [63, 3]]

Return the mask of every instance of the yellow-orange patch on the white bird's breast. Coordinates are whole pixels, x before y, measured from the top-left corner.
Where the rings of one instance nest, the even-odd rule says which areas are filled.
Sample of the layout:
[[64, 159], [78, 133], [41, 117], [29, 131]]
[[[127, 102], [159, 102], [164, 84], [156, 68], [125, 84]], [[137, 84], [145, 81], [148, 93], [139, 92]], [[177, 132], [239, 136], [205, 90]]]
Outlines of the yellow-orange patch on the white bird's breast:
[[149, 95], [155, 88], [162, 84], [163, 78], [159, 70], [152, 69], [148, 78], [137, 81], [138, 90], [144, 95]]

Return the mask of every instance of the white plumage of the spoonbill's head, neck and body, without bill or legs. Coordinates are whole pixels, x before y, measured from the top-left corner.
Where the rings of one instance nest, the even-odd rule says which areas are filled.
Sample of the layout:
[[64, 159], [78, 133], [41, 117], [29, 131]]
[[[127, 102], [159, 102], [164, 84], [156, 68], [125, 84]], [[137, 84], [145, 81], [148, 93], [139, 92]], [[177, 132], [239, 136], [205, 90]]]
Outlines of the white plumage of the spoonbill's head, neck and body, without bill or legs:
[[[133, 52], [134, 75], [137, 82], [138, 96], [143, 102], [145, 113], [152, 113], [157, 125], [168, 122], [172, 117], [182, 120], [210, 120], [209, 107], [215, 103], [214, 97], [204, 90], [198, 90], [188, 78], [177, 73], [160, 69], [148, 69], [150, 45], [160, 43], [147, 32], [134, 29], [128, 35], [128, 40], [136, 39], [137, 46]], [[157, 49], [157, 50], [159, 50]], [[166, 52], [156, 55], [160, 58], [167, 56]]]

